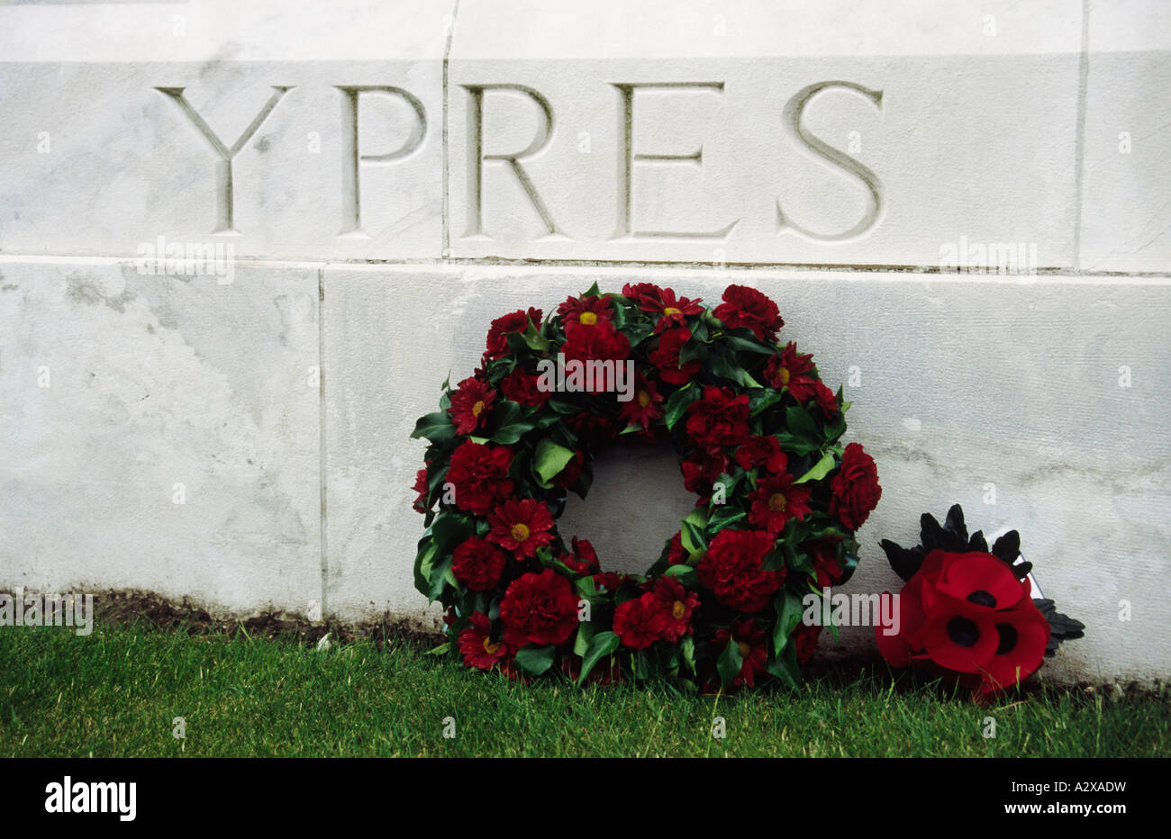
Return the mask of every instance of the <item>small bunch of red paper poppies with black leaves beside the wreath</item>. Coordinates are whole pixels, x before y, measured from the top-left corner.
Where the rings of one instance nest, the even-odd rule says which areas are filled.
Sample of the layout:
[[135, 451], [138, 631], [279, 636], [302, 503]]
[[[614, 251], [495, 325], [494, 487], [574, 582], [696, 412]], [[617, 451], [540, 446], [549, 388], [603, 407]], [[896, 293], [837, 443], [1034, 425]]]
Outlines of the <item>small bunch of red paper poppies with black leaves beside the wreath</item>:
[[922, 544], [906, 549], [882, 541], [895, 573], [906, 580], [897, 621], [875, 626], [878, 652], [891, 667], [927, 668], [982, 700], [1019, 685], [1062, 641], [1083, 635], [1080, 620], [1033, 597], [1033, 564], [1020, 561], [1015, 530], [989, 551], [984, 534], [967, 535], [959, 504], [943, 525], [926, 513], [919, 521]]

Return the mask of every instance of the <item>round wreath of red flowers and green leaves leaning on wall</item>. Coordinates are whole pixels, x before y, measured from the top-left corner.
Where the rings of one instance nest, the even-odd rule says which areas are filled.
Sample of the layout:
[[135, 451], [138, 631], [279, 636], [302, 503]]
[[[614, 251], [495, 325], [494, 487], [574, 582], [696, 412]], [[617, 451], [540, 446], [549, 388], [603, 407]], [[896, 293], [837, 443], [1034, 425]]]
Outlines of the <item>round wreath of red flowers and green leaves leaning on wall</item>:
[[[852, 575], [882, 488], [862, 446], [840, 445], [849, 403], [778, 343], [782, 325], [752, 288], [708, 309], [651, 283], [493, 321], [480, 366], [412, 433], [430, 442], [415, 584], [447, 608], [436, 652], [578, 683], [795, 685], [820, 632], [801, 597]], [[555, 524], [617, 441], [670, 441], [699, 496], [645, 575], [602, 571]]]

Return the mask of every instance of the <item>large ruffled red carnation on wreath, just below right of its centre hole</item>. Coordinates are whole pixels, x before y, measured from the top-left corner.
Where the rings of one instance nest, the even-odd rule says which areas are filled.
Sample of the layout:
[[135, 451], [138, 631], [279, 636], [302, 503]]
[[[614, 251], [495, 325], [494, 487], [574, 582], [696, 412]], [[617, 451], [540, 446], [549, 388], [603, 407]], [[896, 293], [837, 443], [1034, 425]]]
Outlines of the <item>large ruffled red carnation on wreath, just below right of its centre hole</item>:
[[786, 570], [765, 571], [774, 539], [763, 530], [721, 530], [696, 569], [699, 582], [726, 606], [759, 612], [785, 583]]

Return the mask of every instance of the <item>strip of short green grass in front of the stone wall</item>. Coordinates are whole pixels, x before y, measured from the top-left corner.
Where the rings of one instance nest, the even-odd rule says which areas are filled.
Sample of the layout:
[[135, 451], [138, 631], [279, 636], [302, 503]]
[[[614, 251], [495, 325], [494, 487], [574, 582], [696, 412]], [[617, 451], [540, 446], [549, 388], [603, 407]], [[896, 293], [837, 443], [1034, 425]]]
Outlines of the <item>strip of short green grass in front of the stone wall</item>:
[[[1045, 688], [980, 708], [938, 685], [830, 674], [693, 696], [472, 673], [418, 646], [316, 652], [242, 633], [0, 630], [2, 756], [1166, 756], [1171, 713]], [[172, 737], [172, 718], [186, 738]], [[726, 736], [712, 736], [713, 717]], [[985, 738], [985, 717], [997, 737]], [[444, 720], [456, 721], [445, 738]]]

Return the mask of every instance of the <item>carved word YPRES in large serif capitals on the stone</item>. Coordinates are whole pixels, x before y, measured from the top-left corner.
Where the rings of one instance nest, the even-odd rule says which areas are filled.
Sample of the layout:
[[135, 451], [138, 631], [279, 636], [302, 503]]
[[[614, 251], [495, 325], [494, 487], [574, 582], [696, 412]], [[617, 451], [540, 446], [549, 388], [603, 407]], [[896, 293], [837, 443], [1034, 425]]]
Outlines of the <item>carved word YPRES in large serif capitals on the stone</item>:
[[[522, 84], [463, 84], [460, 85], [470, 97], [470, 117], [468, 117], [468, 143], [472, 145], [470, 150], [468, 159], [471, 159], [472, 165], [468, 171], [468, 207], [467, 207], [467, 228], [466, 236], [479, 236], [486, 238], [484, 226], [484, 184], [485, 184], [485, 167], [489, 165], [507, 166], [516, 177], [520, 186], [525, 191], [528, 200], [532, 202], [533, 208], [536, 211], [545, 227], [545, 233], [549, 235], [561, 234], [563, 231], [557, 226], [555, 219], [549, 212], [548, 205], [541, 198], [541, 193], [529, 177], [527, 170], [525, 169], [525, 161], [529, 160], [534, 156], [539, 154], [553, 137], [553, 106], [549, 101], [537, 90]], [[635, 126], [635, 91], [637, 90], [671, 90], [680, 88], [691, 88], [697, 90], [710, 90], [714, 94], [723, 95], [724, 83], [723, 82], [666, 82], [666, 83], [615, 83], [612, 87], [618, 94], [618, 102], [621, 109], [622, 118], [622, 131], [623, 137], [618, 144], [618, 160], [617, 160], [617, 172], [619, 178], [619, 200], [622, 206], [618, 208], [618, 221], [614, 239], [634, 239], [634, 238], [685, 238], [685, 239], [710, 239], [710, 240], [721, 240], [726, 239], [732, 229], [739, 223], [739, 219], [727, 223], [726, 226], [706, 232], [679, 232], [679, 231], [648, 231], [639, 229], [632, 221], [634, 215], [634, 192], [631, 187], [632, 174], [635, 166], [638, 164], [644, 164], [649, 161], [693, 161], [697, 165], [703, 163], [703, 147], [692, 152], [691, 154], [655, 154], [655, 153], [635, 153], [634, 147], [634, 126]], [[184, 88], [156, 88], [160, 94], [167, 96], [172, 99], [179, 108], [179, 110], [191, 121], [191, 123], [199, 130], [199, 132], [206, 138], [207, 143], [211, 145], [212, 151], [217, 154], [215, 160], [215, 179], [217, 179], [217, 195], [218, 195], [218, 207], [217, 207], [217, 225], [214, 233], [234, 233], [237, 232], [233, 226], [234, 213], [233, 213], [233, 195], [234, 187], [232, 180], [232, 161], [235, 156], [240, 153], [245, 144], [255, 135], [256, 130], [263, 124], [268, 116], [281, 102], [283, 96], [293, 89], [293, 85], [287, 87], [273, 87], [273, 94], [265, 103], [263, 108], [256, 114], [244, 132], [237, 138], [237, 140], [228, 146], [207, 124], [207, 122], [200, 116], [191, 103], [184, 96]], [[343, 137], [343, 154], [345, 156], [342, 174], [342, 191], [345, 197], [344, 207], [344, 219], [340, 235], [363, 235], [362, 231], [362, 201], [359, 173], [363, 166], [369, 165], [388, 165], [395, 164], [397, 161], [404, 160], [411, 157], [416, 151], [418, 151], [425, 139], [430, 129], [430, 122], [427, 119], [426, 109], [423, 103], [413, 96], [411, 92], [389, 85], [337, 85], [336, 89], [342, 96], [342, 121], [344, 131]], [[862, 95], [869, 99], [877, 109], [882, 109], [882, 96], [881, 90], [871, 90], [855, 82], [845, 81], [827, 81], [817, 82], [802, 88], [796, 94], [794, 94], [789, 101], [785, 104], [782, 114], [782, 124], [785, 130], [789, 133], [792, 142], [804, 146], [813, 154], [824, 159], [829, 164], [837, 166], [847, 174], [856, 178], [862, 183], [868, 192], [868, 201], [865, 211], [862, 218], [858, 219], [857, 223], [847, 231], [821, 233], [810, 231], [796, 223], [794, 220], [787, 218], [781, 211], [780, 201], [776, 204], [776, 219], [778, 219], [778, 231], [779, 232], [793, 232], [797, 233], [808, 239], [816, 241], [842, 241], [845, 239], [852, 239], [858, 236], [871, 227], [874, 227], [882, 211], [882, 181], [878, 176], [875, 174], [870, 169], [861, 164], [852, 157], [849, 157], [844, 152], [833, 147], [823, 139], [814, 136], [809, 129], [806, 126], [803, 121], [804, 109], [809, 101], [817, 94], [831, 90], [848, 90], [855, 94]], [[521, 94], [527, 96], [537, 106], [541, 115], [541, 126], [536, 131], [536, 136], [533, 140], [525, 147], [511, 153], [486, 153], [484, 151], [484, 111], [485, 111], [485, 94], [488, 91], [512, 91], [514, 94]], [[396, 97], [409, 105], [412, 112], [412, 126], [409, 136], [403, 142], [403, 144], [390, 152], [382, 154], [365, 154], [358, 147], [358, 109], [361, 98], [369, 95], [382, 95]]]

